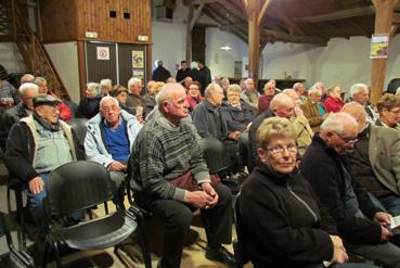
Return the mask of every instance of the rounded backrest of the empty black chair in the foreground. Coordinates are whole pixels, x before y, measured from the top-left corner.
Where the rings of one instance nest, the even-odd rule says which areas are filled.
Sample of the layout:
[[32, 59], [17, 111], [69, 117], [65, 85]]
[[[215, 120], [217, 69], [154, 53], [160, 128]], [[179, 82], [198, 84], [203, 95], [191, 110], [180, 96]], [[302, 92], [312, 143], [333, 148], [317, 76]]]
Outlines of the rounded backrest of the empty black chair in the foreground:
[[107, 169], [89, 161], [70, 162], [51, 171], [47, 193], [49, 216], [86, 209], [115, 195]]

